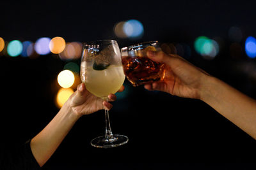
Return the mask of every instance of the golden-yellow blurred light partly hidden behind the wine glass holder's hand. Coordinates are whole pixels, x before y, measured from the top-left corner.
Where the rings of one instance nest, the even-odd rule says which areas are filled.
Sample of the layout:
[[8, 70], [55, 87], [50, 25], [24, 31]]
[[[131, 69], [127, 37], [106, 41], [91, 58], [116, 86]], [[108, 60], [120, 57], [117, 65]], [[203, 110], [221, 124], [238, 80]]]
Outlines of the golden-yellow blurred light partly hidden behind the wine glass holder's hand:
[[56, 105], [58, 108], [61, 108], [63, 104], [68, 100], [68, 97], [70, 97], [73, 93], [74, 90], [72, 89], [61, 88], [56, 96]]

